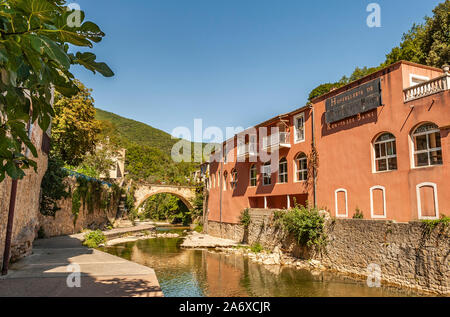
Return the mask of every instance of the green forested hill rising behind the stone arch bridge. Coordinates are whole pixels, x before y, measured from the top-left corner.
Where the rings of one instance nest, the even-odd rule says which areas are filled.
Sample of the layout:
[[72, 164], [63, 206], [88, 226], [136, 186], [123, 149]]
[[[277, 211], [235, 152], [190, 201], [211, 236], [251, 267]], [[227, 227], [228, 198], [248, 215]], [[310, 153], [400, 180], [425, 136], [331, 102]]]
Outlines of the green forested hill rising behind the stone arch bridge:
[[[145, 123], [96, 109], [102, 134], [110, 141], [127, 149], [126, 170], [136, 180], [151, 183], [186, 184], [198, 164], [175, 163], [171, 158], [172, 146], [179, 139]], [[191, 142], [185, 141], [191, 146]]]

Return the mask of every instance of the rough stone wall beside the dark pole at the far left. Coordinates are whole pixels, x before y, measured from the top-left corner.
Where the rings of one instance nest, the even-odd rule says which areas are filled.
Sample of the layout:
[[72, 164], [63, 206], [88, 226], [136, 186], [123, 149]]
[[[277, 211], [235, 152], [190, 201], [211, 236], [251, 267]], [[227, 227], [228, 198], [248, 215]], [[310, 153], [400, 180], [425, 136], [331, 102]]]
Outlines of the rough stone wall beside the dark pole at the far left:
[[[34, 172], [33, 168], [26, 170], [26, 176], [18, 182], [13, 233], [11, 237], [11, 260], [13, 261], [31, 253], [39, 223], [41, 181], [47, 170], [47, 155], [41, 150], [42, 130], [35, 128], [31, 140], [38, 152], [38, 158], [35, 159], [38, 169], [37, 173]], [[12, 180], [9, 177], [6, 177], [0, 183], [0, 267], [5, 249], [11, 183]]]

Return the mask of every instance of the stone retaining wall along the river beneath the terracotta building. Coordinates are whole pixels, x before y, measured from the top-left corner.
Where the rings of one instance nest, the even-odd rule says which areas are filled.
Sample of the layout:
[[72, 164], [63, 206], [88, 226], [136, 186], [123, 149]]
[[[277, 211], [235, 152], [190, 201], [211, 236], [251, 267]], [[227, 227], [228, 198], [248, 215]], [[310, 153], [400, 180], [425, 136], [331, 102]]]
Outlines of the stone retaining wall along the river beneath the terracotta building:
[[299, 258], [320, 260], [327, 268], [367, 276], [369, 264], [381, 267], [383, 283], [422, 291], [450, 294], [450, 229], [443, 225], [428, 232], [421, 222], [335, 219], [327, 222], [328, 244], [321, 252], [299, 246], [295, 239], [272, 225], [272, 212], [251, 210], [248, 230], [237, 224], [209, 222], [213, 236], [280, 247]]

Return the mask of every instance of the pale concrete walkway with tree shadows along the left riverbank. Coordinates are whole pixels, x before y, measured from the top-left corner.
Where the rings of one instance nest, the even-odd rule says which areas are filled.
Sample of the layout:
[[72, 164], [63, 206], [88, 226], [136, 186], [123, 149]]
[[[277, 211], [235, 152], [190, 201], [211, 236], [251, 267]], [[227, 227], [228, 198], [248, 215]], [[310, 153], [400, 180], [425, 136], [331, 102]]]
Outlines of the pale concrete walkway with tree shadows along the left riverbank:
[[[73, 268], [80, 268], [80, 287]], [[71, 271], [72, 269], [72, 271]], [[72, 274], [72, 275], [71, 275]], [[121, 297], [163, 296], [153, 269], [81, 245], [64, 236], [36, 240], [33, 254], [13, 264], [0, 277], [0, 296]]]

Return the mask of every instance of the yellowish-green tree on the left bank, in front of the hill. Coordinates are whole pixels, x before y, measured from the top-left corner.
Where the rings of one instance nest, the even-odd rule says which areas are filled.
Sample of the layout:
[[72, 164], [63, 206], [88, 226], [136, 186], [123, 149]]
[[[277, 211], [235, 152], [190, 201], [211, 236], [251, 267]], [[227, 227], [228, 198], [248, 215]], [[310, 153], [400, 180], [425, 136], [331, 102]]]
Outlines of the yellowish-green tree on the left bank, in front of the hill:
[[86, 154], [94, 153], [100, 125], [95, 120], [91, 89], [78, 80], [74, 82], [79, 92], [71, 98], [55, 93], [51, 155], [78, 166]]

